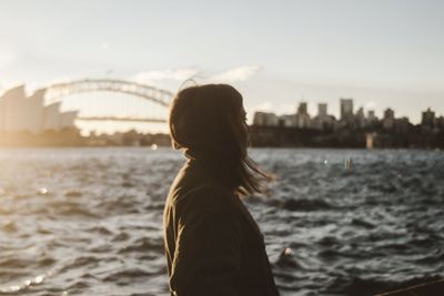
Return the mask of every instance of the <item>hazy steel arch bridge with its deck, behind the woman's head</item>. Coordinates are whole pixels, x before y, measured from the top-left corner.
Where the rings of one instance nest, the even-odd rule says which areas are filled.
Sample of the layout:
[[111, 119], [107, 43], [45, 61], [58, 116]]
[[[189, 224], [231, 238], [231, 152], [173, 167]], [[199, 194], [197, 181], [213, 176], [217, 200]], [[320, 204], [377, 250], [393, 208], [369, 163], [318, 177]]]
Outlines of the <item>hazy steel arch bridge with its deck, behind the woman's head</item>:
[[[60, 101], [64, 96], [89, 92], [115, 92], [134, 95], [151, 101], [160, 106], [168, 108], [173, 93], [154, 86], [115, 79], [84, 79], [63, 83], [56, 83], [44, 89], [46, 100]], [[128, 121], [128, 122], [167, 122], [167, 119], [135, 119], [121, 116], [79, 116], [84, 121]]]

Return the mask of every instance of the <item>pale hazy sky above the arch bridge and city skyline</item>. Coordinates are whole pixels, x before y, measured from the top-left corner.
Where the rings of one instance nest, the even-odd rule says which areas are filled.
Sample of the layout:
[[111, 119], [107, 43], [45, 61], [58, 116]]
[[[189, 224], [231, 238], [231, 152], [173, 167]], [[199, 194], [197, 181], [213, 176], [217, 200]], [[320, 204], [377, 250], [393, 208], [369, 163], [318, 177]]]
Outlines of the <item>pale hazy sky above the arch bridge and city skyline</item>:
[[444, 114], [444, 1], [0, 0], [0, 89], [120, 78], [234, 84], [250, 112], [339, 98]]

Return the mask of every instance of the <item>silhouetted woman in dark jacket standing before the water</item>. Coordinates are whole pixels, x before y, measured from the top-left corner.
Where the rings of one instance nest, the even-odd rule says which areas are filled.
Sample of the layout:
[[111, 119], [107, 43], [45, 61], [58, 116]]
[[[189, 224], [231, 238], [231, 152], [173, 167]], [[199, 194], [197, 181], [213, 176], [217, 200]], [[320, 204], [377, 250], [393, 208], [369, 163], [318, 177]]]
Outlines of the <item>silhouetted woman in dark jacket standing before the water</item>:
[[225, 84], [180, 91], [170, 133], [188, 159], [164, 210], [171, 295], [279, 295], [263, 236], [240, 200], [268, 178], [246, 154], [242, 95]]

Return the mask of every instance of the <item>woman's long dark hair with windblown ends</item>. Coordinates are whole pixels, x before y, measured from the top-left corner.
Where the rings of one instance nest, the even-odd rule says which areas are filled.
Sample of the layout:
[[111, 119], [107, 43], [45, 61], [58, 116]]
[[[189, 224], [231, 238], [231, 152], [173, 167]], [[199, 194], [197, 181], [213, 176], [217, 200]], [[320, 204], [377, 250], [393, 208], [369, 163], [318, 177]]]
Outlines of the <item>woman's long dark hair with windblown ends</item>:
[[242, 95], [231, 85], [205, 84], [181, 90], [170, 106], [174, 149], [216, 163], [241, 195], [262, 193], [271, 176], [246, 153], [249, 144]]

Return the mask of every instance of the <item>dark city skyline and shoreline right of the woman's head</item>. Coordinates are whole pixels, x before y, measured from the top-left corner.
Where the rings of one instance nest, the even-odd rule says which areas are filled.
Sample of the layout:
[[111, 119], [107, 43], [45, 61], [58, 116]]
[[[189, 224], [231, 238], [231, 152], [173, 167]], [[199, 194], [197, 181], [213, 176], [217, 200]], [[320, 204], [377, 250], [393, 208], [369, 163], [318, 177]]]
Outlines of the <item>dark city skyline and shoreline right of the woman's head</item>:
[[311, 116], [301, 102], [293, 114], [256, 112], [251, 133], [254, 146], [444, 147], [444, 118], [428, 108], [414, 125], [408, 118], [396, 118], [393, 109], [379, 119], [374, 110], [354, 111], [353, 99], [340, 99], [340, 119], [329, 114], [325, 103]]

